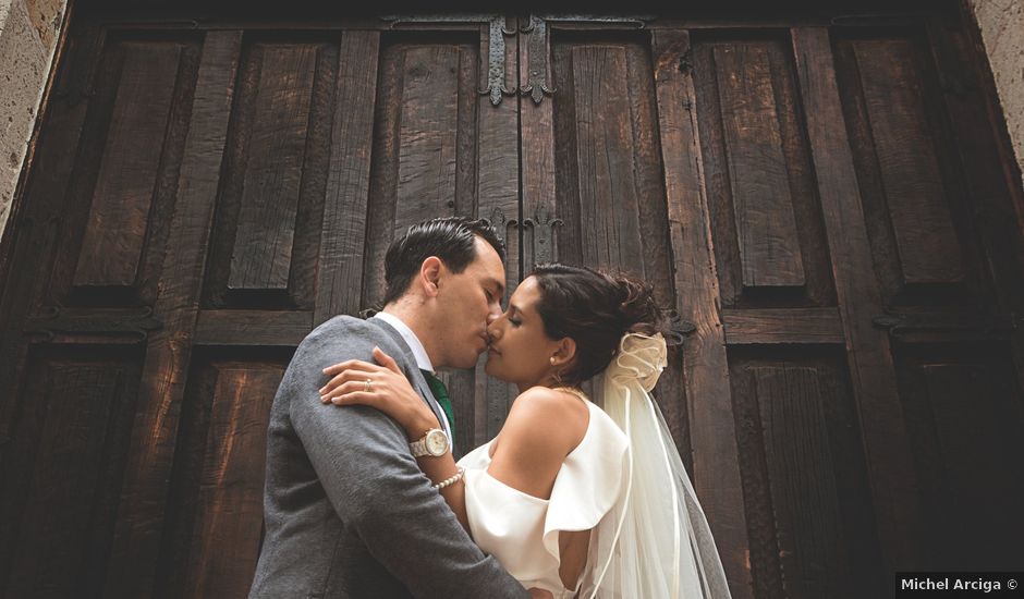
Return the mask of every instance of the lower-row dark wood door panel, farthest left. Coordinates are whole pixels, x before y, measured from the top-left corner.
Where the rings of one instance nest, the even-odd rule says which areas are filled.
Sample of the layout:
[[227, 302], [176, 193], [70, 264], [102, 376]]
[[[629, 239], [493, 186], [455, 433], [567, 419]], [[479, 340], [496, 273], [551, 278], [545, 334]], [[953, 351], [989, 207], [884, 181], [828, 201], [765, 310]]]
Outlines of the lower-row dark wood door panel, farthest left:
[[0, 589], [99, 595], [142, 372], [143, 349], [34, 345], [14, 435], [0, 451]]

